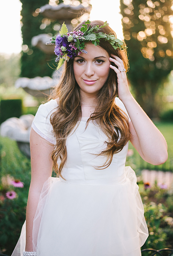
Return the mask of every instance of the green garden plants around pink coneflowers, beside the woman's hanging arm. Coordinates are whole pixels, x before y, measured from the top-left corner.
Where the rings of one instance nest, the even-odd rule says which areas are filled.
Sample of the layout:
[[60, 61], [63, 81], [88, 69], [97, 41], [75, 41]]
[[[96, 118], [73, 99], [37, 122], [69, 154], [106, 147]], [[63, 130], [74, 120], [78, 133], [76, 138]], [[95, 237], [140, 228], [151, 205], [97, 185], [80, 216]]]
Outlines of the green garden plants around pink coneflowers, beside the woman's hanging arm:
[[[5, 186], [1, 181], [7, 176], [22, 181], [24, 187]], [[0, 248], [8, 255], [14, 250], [25, 220], [29, 184], [30, 160], [21, 154], [15, 141], [0, 137]], [[4, 196], [11, 189], [17, 193], [13, 200]]]

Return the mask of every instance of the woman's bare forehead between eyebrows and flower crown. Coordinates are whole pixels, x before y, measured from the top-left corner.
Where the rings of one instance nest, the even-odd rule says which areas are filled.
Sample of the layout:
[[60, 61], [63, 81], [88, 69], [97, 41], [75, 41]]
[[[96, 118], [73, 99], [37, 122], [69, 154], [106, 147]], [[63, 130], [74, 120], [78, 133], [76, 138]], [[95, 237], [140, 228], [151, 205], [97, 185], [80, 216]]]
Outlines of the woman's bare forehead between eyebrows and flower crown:
[[77, 55], [77, 56], [78, 57], [82, 56], [85, 59], [86, 58], [91, 58], [91, 57], [95, 58], [95, 57], [98, 57], [98, 56], [105, 56], [106, 58], [109, 58], [109, 54], [105, 49], [103, 49], [100, 46], [95, 46], [91, 42], [85, 43], [85, 51], [88, 52], [88, 53], [83, 53], [82, 52], [82, 53], [80, 53], [80, 55]]

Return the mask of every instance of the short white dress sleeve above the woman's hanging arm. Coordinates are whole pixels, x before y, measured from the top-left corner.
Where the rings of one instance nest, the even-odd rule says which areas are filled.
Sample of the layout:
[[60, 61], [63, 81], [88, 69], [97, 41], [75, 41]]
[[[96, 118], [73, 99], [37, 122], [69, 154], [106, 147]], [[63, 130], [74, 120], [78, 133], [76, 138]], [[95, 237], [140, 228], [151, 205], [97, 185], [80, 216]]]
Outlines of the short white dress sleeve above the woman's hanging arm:
[[53, 133], [53, 127], [50, 123], [50, 116], [57, 106], [57, 102], [53, 99], [45, 104], [41, 104], [31, 126], [36, 133], [52, 144], [56, 143], [56, 139]]

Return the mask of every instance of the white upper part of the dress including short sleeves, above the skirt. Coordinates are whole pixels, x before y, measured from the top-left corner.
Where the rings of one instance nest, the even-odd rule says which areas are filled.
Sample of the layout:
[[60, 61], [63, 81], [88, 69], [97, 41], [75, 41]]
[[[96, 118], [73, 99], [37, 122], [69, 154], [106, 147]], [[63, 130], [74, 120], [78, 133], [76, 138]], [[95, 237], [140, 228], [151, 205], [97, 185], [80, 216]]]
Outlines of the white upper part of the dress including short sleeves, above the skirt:
[[[118, 101], [120, 100], [118, 99]], [[32, 128], [39, 135], [54, 144], [55, 138], [49, 119], [51, 111], [56, 107], [55, 100], [40, 105], [32, 124]], [[107, 168], [94, 168], [102, 166], [106, 162], [107, 157], [98, 156], [98, 154], [106, 148], [107, 137], [96, 121], [91, 120], [87, 127], [86, 121], [87, 117], [83, 117], [76, 130], [67, 138], [67, 163], [62, 171], [62, 177], [66, 180], [96, 180], [123, 175], [128, 143], [120, 152], [114, 154], [112, 162]]]

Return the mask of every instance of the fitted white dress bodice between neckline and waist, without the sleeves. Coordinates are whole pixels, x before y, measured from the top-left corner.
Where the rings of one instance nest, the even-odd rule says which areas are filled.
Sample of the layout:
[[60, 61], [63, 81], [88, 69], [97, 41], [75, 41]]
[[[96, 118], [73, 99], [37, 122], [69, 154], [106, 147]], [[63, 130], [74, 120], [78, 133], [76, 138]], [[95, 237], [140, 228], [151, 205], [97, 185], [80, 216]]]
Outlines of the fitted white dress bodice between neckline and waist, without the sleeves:
[[94, 180], [114, 178], [124, 173], [128, 143], [123, 150], [114, 154], [111, 165], [97, 170], [94, 166], [102, 166], [107, 157], [100, 155], [105, 147], [106, 135], [100, 127], [90, 121], [81, 120], [76, 131], [67, 138], [67, 164], [62, 176], [68, 180]]

